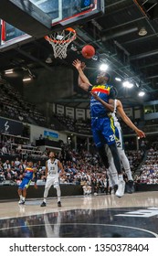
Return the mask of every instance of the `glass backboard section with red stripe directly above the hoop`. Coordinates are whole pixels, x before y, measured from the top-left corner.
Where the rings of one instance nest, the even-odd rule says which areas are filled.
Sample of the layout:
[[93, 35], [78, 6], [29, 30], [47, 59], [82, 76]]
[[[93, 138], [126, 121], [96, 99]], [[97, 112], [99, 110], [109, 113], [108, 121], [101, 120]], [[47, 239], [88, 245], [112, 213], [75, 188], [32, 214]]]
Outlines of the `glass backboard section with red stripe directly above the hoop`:
[[30, 0], [30, 2], [51, 17], [53, 29], [57, 25], [72, 26], [104, 11], [102, 0]]

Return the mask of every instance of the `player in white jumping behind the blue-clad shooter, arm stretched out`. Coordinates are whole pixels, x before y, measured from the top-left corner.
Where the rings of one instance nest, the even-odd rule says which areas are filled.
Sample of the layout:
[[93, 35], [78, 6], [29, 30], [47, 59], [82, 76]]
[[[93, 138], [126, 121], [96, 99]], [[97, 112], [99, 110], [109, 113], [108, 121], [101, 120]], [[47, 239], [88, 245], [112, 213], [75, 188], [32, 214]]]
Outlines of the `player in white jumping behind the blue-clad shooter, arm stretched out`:
[[[100, 101], [100, 97], [98, 95], [94, 95], [94, 97], [96, 98], [96, 100]], [[124, 121], [124, 123], [126, 123], [129, 127], [132, 128], [132, 130], [137, 133], [137, 135], [142, 138], [145, 137], [145, 133], [142, 132], [142, 130], [138, 129], [130, 120], [130, 118], [126, 115], [126, 113], [123, 110], [121, 101], [119, 100], [114, 100], [113, 101], [109, 101], [109, 104], [105, 103], [101, 100], [100, 101], [105, 108], [108, 108], [111, 111], [111, 118], [114, 121], [114, 125], [116, 128], [116, 144], [117, 144], [117, 148], [118, 148], [118, 152], [121, 158], [121, 163], [123, 165], [123, 168], [125, 170], [125, 173], [128, 177], [128, 182], [130, 185], [130, 190], [129, 192], [132, 193], [132, 185], [133, 185], [133, 179], [132, 179], [132, 171], [131, 171], [131, 167], [130, 167], [130, 163], [129, 160], [127, 158], [127, 156], [125, 155], [124, 152], [124, 145], [123, 145], [123, 140], [122, 140], [122, 133], [121, 133], [121, 124], [118, 121], [118, 118], [116, 116], [116, 112], [118, 112], [121, 116], [121, 119]], [[114, 105], [113, 105], [114, 104]], [[109, 105], [109, 106], [108, 106]], [[109, 150], [109, 148], [107, 147], [107, 155], [108, 155], [108, 159], [109, 159], [109, 164], [110, 167], [108, 169], [108, 175], [110, 177], [110, 184], [117, 184], [118, 183], [118, 176], [117, 176], [117, 171], [115, 168], [115, 165], [113, 163], [113, 159], [112, 159], [112, 155], [111, 155], [111, 151]]]

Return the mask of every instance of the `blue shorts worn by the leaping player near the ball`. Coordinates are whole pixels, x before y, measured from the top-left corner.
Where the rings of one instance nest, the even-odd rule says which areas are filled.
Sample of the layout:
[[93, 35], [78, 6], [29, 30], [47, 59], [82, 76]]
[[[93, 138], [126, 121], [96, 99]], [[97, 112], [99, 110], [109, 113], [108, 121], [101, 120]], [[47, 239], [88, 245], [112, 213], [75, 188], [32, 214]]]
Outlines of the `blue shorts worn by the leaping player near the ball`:
[[104, 144], [115, 144], [115, 126], [109, 117], [91, 118], [93, 140], [97, 147]]

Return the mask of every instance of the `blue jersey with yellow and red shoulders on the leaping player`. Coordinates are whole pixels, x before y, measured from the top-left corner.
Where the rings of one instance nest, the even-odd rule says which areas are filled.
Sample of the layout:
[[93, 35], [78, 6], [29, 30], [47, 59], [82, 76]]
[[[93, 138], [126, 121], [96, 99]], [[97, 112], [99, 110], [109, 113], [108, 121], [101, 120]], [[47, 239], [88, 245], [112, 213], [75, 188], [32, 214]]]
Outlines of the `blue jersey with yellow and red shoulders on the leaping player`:
[[[109, 99], [113, 99], [113, 95], [111, 95], [112, 86], [109, 84], [103, 85], [94, 85], [91, 88], [92, 92], [98, 94], [101, 100], [106, 101], [108, 103]], [[91, 117], [105, 117], [107, 115], [108, 110], [100, 103], [91, 96], [90, 99], [90, 115]]]

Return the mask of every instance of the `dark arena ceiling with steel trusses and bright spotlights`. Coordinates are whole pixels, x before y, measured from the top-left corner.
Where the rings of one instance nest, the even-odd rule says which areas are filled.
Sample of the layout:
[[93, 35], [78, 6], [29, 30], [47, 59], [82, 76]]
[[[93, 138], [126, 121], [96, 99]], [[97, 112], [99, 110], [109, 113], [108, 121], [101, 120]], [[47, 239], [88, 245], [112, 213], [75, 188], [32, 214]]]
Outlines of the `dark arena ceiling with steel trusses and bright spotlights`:
[[[51, 46], [42, 37], [20, 47], [0, 51], [0, 72], [5, 69], [52, 70], [55, 65], [72, 68], [73, 59], [86, 62], [86, 73], [93, 81], [100, 63], [109, 65], [111, 83], [119, 91], [119, 98], [125, 105], [138, 105], [158, 97], [158, 3], [155, 0], [105, 0], [104, 15], [74, 26], [77, 39], [68, 48], [66, 59], [55, 59]], [[96, 48], [96, 59], [83, 59], [80, 51], [86, 44]], [[46, 59], [50, 57], [51, 63]], [[72, 68], [73, 69], [73, 68]], [[88, 107], [89, 97], [77, 89], [68, 99], [58, 102], [69, 106]], [[121, 82], [131, 80], [134, 87], [127, 90]], [[144, 91], [139, 98], [137, 92]]]

